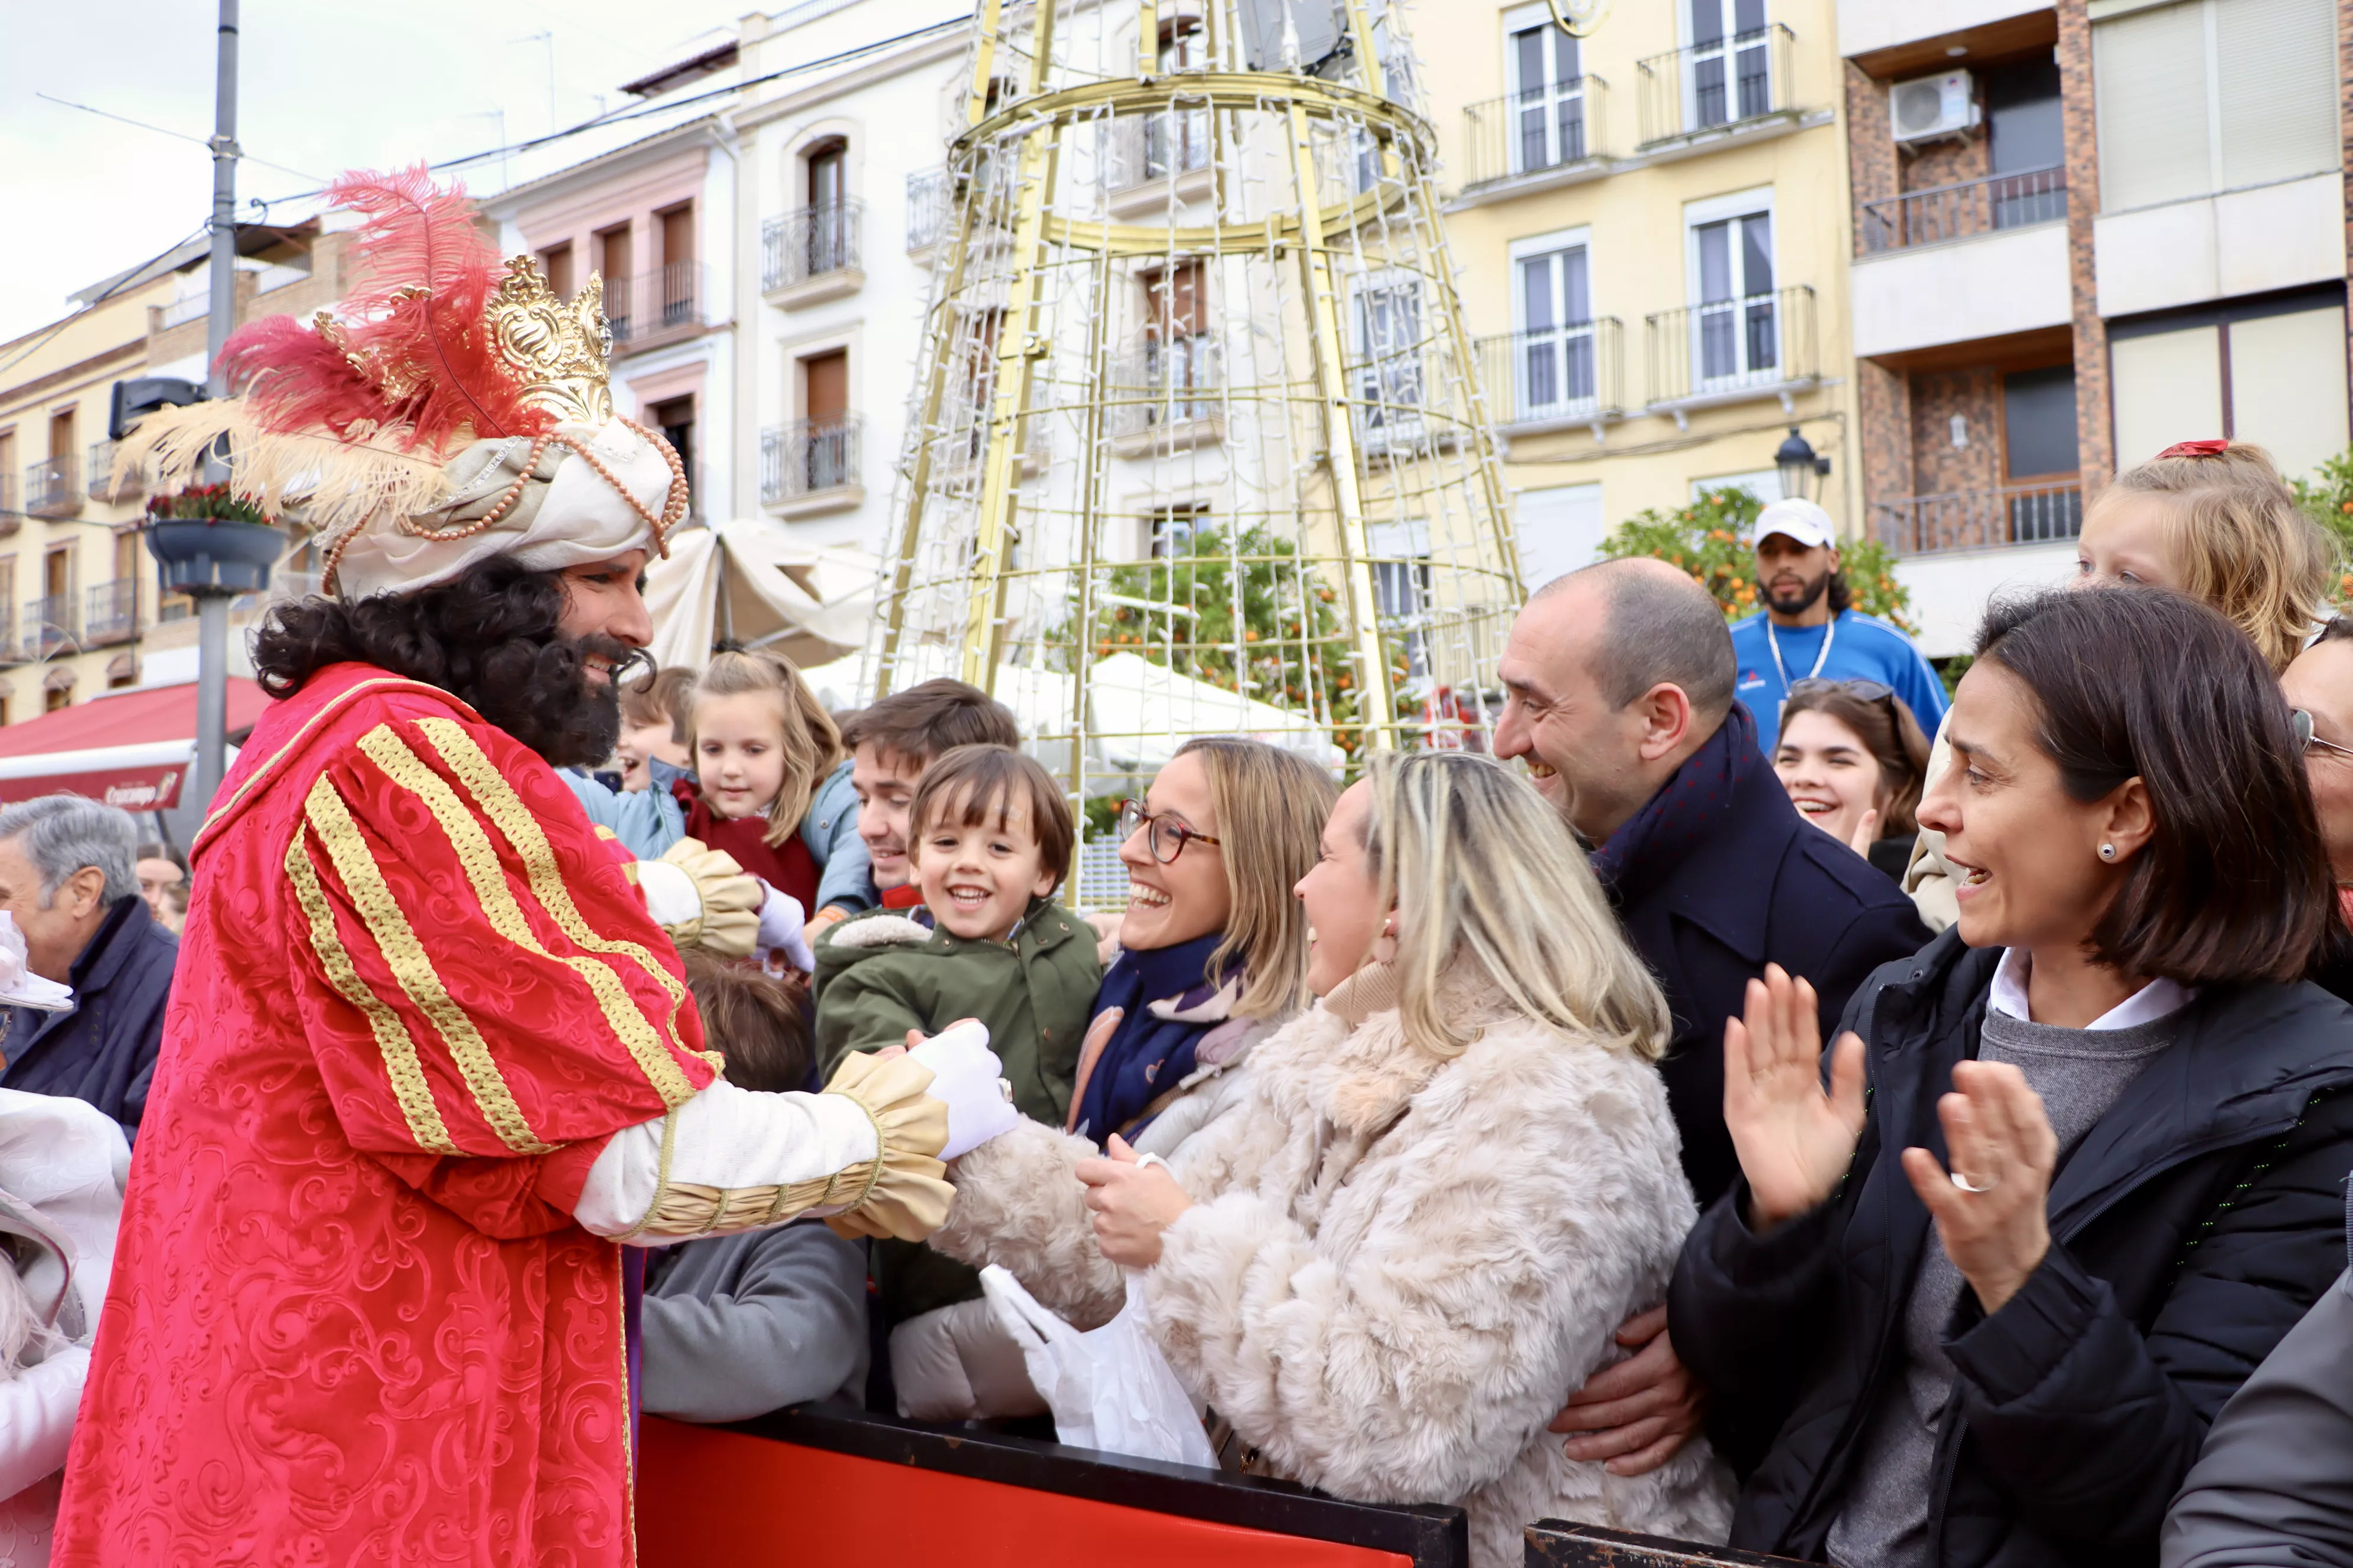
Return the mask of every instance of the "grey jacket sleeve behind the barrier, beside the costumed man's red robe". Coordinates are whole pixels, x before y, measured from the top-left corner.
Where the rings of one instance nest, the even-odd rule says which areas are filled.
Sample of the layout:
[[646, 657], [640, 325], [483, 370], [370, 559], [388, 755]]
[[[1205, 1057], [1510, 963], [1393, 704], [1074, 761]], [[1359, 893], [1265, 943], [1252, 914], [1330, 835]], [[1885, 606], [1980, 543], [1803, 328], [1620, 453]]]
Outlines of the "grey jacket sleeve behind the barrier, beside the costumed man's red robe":
[[647, 1415], [722, 1422], [835, 1394], [864, 1403], [866, 1359], [866, 1248], [824, 1225], [647, 1260]]

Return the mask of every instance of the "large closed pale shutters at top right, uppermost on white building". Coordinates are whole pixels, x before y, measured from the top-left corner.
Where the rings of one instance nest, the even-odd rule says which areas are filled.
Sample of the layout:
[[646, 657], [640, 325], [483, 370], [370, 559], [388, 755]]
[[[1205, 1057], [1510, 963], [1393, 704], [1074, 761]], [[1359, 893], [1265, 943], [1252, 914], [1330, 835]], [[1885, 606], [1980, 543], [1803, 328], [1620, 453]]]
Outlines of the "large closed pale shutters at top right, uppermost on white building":
[[2092, 28], [2099, 205], [2129, 212], [2327, 174], [2334, 0], [2179, 0]]

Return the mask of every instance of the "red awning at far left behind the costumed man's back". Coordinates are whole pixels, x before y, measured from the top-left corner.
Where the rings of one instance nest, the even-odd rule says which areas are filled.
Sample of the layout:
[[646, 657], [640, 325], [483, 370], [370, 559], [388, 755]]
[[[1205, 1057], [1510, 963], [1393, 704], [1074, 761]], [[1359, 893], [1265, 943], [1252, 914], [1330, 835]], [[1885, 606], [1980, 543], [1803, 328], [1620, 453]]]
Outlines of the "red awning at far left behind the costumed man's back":
[[[249, 679], [228, 682], [228, 733], [271, 705]], [[179, 804], [195, 764], [195, 682], [108, 691], [0, 726], [0, 806], [35, 795], [87, 795], [125, 811]]]

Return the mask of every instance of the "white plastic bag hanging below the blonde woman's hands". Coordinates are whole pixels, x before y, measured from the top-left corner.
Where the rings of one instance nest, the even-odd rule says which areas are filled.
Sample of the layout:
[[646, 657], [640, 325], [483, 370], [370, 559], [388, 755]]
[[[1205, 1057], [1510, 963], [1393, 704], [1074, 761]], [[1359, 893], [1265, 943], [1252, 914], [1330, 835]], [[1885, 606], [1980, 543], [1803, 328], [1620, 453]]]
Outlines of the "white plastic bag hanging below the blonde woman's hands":
[[1031, 1382], [1054, 1408], [1056, 1439], [1073, 1448], [1217, 1469], [1217, 1450], [1200, 1429], [1193, 1399], [1153, 1345], [1139, 1274], [1127, 1274], [1120, 1314], [1087, 1333], [1040, 1307], [998, 1265], [981, 1269], [981, 1291], [1021, 1347]]

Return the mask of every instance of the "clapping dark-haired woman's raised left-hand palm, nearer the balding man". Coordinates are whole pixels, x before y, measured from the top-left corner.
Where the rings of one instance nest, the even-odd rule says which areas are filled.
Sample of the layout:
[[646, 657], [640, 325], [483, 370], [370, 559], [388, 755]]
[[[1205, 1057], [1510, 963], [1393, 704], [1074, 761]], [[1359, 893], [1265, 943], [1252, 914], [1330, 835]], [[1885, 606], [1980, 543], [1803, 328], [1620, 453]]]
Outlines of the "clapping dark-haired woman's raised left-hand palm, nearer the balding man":
[[1864, 1041], [1838, 1037], [1824, 1093], [1819, 1006], [1812, 985], [1767, 964], [1746, 1018], [1725, 1020], [1725, 1128], [1760, 1234], [1828, 1201], [1864, 1135]]

